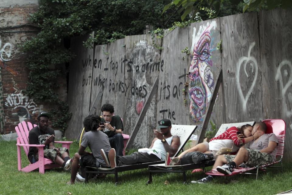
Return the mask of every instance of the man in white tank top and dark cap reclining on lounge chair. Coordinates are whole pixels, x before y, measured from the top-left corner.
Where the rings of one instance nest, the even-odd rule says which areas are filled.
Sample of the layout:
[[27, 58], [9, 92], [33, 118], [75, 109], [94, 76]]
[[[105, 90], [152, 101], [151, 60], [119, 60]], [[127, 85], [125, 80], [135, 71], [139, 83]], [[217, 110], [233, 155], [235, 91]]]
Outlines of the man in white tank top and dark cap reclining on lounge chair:
[[[114, 168], [116, 166], [131, 165], [145, 162], [155, 162], [165, 160], [166, 152], [170, 156], [176, 154], [178, 150], [180, 139], [178, 136], [172, 136], [171, 122], [168, 119], [162, 119], [158, 122], [161, 132], [154, 130], [155, 138], [152, 140], [152, 144], [149, 148], [139, 149], [138, 152], [134, 152], [127, 156], [116, 156], [114, 148], [109, 150], [108, 155], [101, 150], [104, 161], [108, 167]], [[108, 156], [108, 158], [107, 158]]]

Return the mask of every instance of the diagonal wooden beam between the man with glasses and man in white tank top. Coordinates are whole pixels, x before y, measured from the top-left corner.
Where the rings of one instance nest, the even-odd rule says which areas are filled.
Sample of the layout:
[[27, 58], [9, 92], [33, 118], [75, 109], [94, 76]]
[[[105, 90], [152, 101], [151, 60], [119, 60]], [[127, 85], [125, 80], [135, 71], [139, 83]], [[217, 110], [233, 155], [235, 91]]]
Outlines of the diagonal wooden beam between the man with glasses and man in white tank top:
[[138, 130], [140, 129], [140, 126], [141, 126], [142, 121], [143, 121], [143, 119], [144, 119], [144, 117], [146, 115], [146, 112], [147, 112], [147, 110], [148, 110], [148, 108], [149, 108], [149, 106], [151, 104], [151, 101], [152, 101], [154, 95], [157, 93], [157, 89], [158, 89], [158, 77], [156, 78], [156, 81], [155, 81], [155, 83], [154, 83], [154, 85], [153, 85], [153, 87], [151, 89], [151, 92], [150, 92], [150, 94], [149, 94], [149, 96], [148, 96], [148, 98], [147, 98], [147, 100], [146, 100], [146, 102], [145, 102], [145, 104], [144, 104], [144, 106], [142, 108], [142, 111], [140, 113], [139, 119], [137, 120], [136, 125], [134, 127], [134, 130], [132, 131], [132, 133], [130, 135], [130, 139], [128, 140], [128, 143], [127, 143], [127, 146], [126, 146], [125, 150], [127, 150], [129, 148], [132, 148], [132, 144], [133, 144], [133, 142], [135, 140], [135, 137], [136, 137], [136, 135], [138, 133]]

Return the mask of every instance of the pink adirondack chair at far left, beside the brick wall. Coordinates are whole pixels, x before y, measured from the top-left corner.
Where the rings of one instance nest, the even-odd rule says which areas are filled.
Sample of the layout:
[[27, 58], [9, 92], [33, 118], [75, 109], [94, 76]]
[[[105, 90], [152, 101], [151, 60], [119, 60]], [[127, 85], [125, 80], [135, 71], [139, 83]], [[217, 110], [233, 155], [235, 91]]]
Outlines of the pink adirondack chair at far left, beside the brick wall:
[[[28, 128], [27, 128], [28, 126]], [[18, 124], [18, 126], [15, 127], [16, 133], [18, 135], [17, 138], [17, 162], [18, 162], [18, 170], [19, 171], [23, 171], [23, 172], [30, 172], [33, 171], [35, 169], [39, 169], [40, 173], [44, 173], [45, 169], [49, 169], [49, 168], [56, 168], [56, 167], [60, 167], [59, 165], [55, 164], [54, 161], [51, 161], [48, 158], [44, 158], [43, 156], [43, 147], [45, 145], [36, 145], [36, 144], [29, 144], [28, 141], [28, 134], [29, 131], [35, 127], [36, 125], [32, 125], [30, 122], [20, 122]], [[66, 147], [69, 150], [70, 144], [72, 143], [72, 141], [55, 141], [55, 143], [60, 143], [62, 144], [62, 147]], [[27, 156], [28, 152], [29, 152], [29, 147], [33, 146], [33, 147], [38, 147], [39, 148], [39, 160], [33, 164], [29, 164], [24, 168], [21, 168], [21, 153], [20, 153], [20, 149], [21, 147], [23, 147], [23, 150]]]

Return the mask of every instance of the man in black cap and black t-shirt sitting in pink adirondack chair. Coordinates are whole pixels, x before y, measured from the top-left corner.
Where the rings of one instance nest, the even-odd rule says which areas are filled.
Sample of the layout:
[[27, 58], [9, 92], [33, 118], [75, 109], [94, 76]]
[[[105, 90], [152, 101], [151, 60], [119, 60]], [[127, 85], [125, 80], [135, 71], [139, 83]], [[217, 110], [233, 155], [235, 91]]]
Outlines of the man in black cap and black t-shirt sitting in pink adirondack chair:
[[[62, 166], [64, 170], [69, 170], [71, 163], [69, 151], [67, 148], [54, 147], [55, 132], [54, 129], [48, 127], [50, 114], [47, 112], [40, 112], [37, 116], [39, 125], [30, 130], [28, 135], [29, 144], [43, 144], [43, 154], [45, 158], [49, 158], [56, 164]], [[38, 148], [30, 147], [28, 159], [31, 163], [38, 161]]]

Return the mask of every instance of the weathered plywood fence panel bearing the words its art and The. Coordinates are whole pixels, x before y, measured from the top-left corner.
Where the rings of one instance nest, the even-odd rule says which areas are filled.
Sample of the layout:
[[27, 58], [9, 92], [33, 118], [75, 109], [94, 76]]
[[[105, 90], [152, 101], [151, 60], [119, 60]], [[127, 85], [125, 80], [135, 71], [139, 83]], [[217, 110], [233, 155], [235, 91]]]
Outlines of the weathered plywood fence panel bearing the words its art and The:
[[188, 81], [188, 56], [181, 50], [188, 46], [189, 28], [165, 30], [162, 41], [161, 61], [163, 68], [159, 74], [157, 120], [169, 119], [172, 124], [190, 124], [187, 105], [187, 92], [182, 90]]

